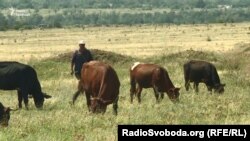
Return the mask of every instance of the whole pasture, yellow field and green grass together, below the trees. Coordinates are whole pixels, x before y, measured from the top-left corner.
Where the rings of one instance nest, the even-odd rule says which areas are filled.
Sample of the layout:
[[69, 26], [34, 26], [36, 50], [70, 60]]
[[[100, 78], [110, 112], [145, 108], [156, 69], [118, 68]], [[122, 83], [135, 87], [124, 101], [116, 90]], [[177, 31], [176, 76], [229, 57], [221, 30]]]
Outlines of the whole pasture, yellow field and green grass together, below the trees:
[[[70, 75], [70, 55], [77, 42], [86, 41], [94, 57], [117, 71], [121, 87], [118, 116], [109, 105], [104, 115], [89, 113], [85, 96], [70, 105], [77, 80]], [[98, 50], [96, 50], [98, 49]], [[225, 93], [186, 92], [183, 64], [202, 59], [215, 64]], [[250, 26], [249, 23], [209, 25], [135, 25], [0, 32], [0, 61], [32, 65], [44, 92], [52, 95], [43, 110], [32, 99], [30, 110], [11, 113], [0, 140], [115, 141], [118, 124], [249, 124], [250, 123]], [[156, 103], [153, 90], [142, 91], [142, 103], [130, 103], [128, 69], [134, 61], [164, 66], [180, 102], [165, 95]], [[16, 91], [0, 91], [5, 106], [17, 107]]]

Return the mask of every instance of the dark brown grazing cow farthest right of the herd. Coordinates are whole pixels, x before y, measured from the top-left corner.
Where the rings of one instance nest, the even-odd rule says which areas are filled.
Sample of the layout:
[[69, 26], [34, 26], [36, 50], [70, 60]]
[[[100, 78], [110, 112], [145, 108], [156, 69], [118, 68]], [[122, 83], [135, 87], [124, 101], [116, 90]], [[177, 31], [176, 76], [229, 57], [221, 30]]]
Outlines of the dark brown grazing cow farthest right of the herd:
[[208, 91], [212, 89], [216, 93], [223, 93], [225, 84], [221, 84], [215, 66], [207, 61], [190, 60], [183, 65], [186, 91], [189, 90], [190, 82], [194, 83], [196, 93], [199, 91], [199, 83], [205, 83]]

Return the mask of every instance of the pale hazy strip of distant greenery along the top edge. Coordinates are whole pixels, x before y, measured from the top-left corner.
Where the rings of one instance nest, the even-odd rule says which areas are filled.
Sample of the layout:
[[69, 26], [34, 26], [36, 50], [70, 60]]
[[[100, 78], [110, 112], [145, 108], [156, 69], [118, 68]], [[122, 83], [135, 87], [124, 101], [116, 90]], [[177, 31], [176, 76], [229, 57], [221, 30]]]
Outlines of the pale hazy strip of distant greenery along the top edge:
[[215, 8], [249, 7], [250, 0], [0, 0], [0, 8]]

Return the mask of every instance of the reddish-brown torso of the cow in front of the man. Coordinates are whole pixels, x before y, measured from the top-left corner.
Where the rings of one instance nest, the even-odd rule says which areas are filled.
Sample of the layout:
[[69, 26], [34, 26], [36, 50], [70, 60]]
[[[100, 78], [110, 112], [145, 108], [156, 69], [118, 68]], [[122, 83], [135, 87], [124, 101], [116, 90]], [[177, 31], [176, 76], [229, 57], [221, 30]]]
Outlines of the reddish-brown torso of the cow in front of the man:
[[84, 63], [82, 67], [82, 85], [92, 97], [112, 103], [119, 94], [120, 81], [115, 70], [99, 61]]

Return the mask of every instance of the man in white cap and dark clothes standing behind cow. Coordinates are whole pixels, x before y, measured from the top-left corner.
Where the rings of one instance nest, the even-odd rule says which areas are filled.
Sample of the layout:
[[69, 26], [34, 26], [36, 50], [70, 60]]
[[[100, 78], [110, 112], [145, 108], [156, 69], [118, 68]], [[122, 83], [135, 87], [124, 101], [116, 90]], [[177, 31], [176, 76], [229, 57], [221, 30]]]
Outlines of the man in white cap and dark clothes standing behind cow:
[[81, 40], [79, 50], [75, 51], [71, 60], [71, 75], [75, 73], [76, 78], [80, 80], [82, 65], [91, 60], [93, 60], [92, 54], [86, 49], [84, 41]]

